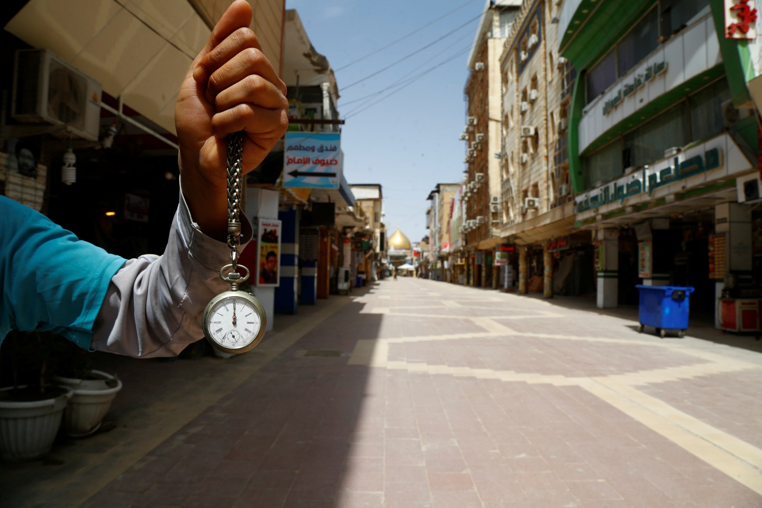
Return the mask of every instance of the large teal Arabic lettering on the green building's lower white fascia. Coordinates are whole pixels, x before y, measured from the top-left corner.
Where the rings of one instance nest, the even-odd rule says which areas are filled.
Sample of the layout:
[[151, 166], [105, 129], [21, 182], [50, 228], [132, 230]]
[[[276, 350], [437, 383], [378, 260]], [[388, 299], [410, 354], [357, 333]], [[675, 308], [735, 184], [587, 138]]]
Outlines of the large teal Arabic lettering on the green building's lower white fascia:
[[[666, 167], [664, 167], [666, 165]], [[575, 199], [577, 213], [619, 202], [624, 204], [628, 197], [648, 193], [650, 196], [659, 187], [684, 180], [696, 174], [722, 167], [722, 149], [712, 148], [703, 154], [693, 155], [680, 162], [678, 157], [667, 159], [626, 177], [610, 182], [603, 187], [581, 194]]]

